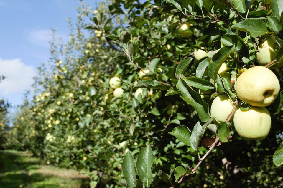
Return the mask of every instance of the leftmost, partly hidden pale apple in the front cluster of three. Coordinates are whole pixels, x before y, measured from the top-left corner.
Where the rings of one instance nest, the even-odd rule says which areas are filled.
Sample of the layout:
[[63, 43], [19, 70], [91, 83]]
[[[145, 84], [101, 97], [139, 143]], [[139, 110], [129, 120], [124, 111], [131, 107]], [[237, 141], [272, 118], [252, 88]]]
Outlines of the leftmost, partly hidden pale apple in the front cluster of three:
[[[212, 102], [210, 115], [215, 117], [215, 120], [224, 122], [233, 110], [233, 106], [233, 101], [231, 101], [228, 96], [218, 95]], [[231, 117], [231, 120], [233, 120], [233, 116]]]

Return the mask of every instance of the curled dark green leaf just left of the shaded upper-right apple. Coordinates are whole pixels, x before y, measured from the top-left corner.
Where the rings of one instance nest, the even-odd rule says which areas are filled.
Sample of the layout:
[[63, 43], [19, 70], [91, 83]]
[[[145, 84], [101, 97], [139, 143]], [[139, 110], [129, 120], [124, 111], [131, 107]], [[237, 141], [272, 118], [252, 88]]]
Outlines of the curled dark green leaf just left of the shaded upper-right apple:
[[249, 48], [238, 35], [223, 35], [221, 36], [220, 41], [224, 46], [231, 46], [235, 44], [235, 50], [238, 54], [246, 58], [250, 57]]

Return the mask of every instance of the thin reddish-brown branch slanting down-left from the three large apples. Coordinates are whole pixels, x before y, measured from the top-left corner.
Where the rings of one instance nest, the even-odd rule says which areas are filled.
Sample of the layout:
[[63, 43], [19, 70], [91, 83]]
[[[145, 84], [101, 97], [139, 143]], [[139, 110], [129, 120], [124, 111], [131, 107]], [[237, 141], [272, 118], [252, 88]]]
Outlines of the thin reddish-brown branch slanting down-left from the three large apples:
[[[229, 121], [231, 120], [232, 115], [233, 115], [233, 114], [235, 113], [235, 111], [236, 111], [237, 105], [238, 105], [238, 100], [236, 100], [236, 101], [234, 102], [233, 109], [232, 109], [231, 113], [228, 115], [228, 117], [227, 117], [227, 119], [226, 119], [225, 122], [229, 122]], [[205, 160], [205, 158], [210, 154], [210, 152], [212, 152], [212, 150], [215, 148], [215, 146], [218, 145], [218, 142], [219, 142], [219, 138], [218, 138], [218, 136], [216, 136], [216, 137], [215, 137], [215, 141], [214, 141], [213, 144], [211, 145], [210, 149], [205, 153], [205, 155], [203, 155], [203, 157], [200, 159], [200, 161], [199, 161], [198, 164], [195, 166], [195, 168], [192, 169], [192, 172], [191, 172], [191, 173], [195, 172], [195, 171], [198, 169], [198, 167], [199, 167], [200, 164], [203, 162], [203, 160]], [[190, 174], [191, 174], [191, 173], [190, 173]], [[189, 176], [190, 174], [185, 174], [183, 177], [181, 177], [181, 179], [180, 179], [177, 183], [175, 183], [175, 184], [174, 184], [172, 187], [170, 187], [170, 188], [174, 188], [177, 184], [180, 184], [180, 183], [183, 181], [183, 179], [184, 179], [185, 177]]]

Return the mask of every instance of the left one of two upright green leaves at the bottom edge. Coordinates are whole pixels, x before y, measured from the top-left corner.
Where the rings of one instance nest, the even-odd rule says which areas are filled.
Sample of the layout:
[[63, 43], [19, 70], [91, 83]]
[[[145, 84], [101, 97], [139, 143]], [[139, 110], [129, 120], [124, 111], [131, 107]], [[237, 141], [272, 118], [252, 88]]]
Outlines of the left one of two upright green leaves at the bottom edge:
[[135, 158], [130, 152], [123, 157], [122, 171], [127, 187], [134, 187], [136, 185]]

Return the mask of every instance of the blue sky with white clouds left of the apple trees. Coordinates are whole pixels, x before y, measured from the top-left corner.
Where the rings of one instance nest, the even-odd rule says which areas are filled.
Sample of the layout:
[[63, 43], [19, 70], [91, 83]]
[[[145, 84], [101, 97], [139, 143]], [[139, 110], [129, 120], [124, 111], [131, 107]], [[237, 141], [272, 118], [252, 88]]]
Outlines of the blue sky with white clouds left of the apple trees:
[[[96, 7], [98, 0], [86, 0]], [[76, 21], [78, 0], [0, 0], [0, 98], [12, 105], [22, 103], [23, 93], [31, 89], [37, 67], [49, 58], [50, 29], [68, 39], [70, 17]]]

